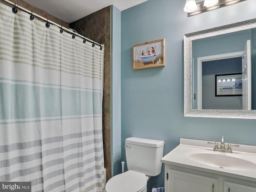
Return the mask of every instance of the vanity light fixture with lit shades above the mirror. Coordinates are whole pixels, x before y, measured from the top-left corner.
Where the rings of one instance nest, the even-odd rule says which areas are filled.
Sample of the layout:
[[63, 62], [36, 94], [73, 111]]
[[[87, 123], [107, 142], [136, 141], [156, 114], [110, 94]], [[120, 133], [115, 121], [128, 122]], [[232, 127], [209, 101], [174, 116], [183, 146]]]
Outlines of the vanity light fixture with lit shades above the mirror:
[[203, 12], [233, 5], [241, 1], [245, 1], [245, 0], [204, 0], [198, 3], [196, 3], [195, 0], [186, 0], [184, 12], [187, 12], [188, 17], [190, 17]]

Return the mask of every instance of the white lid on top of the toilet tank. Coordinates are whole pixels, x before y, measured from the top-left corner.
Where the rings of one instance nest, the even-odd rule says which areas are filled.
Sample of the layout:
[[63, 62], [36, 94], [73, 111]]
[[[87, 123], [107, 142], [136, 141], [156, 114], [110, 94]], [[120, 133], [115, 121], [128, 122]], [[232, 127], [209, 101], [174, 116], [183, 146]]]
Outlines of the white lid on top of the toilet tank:
[[137, 137], [127, 138], [125, 140], [125, 143], [146, 146], [146, 147], [153, 147], [153, 148], [162, 147], [164, 145], [164, 141], [153, 140], [153, 139], [143, 139], [143, 138], [137, 138]]

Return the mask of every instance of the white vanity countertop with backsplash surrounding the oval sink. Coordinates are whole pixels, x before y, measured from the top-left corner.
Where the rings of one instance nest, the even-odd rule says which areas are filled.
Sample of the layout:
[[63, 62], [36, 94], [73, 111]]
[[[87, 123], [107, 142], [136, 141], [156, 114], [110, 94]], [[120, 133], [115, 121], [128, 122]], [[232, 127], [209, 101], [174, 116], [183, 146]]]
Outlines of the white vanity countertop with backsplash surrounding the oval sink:
[[[161, 159], [161, 162], [174, 166], [211, 172], [226, 176], [232, 176], [245, 180], [256, 182], [256, 146], [240, 145], [240, 147], [232, 147], [233, 153], [213, 151], [214, 144], [208, 144], [203, 140], [180, 139], [180, 144]], [[226, 144], [227, 148], [227, 144]], [[237, 158], [247, 162], [241, 165], [241, 168], [220, 168], [218, 166], [198, 162], [191, 158], [194, 154], [210, 154], [217, 155], [218, 158], [225, 160], [228, 158]], [[212, 155], [212, 156], [213, 156]], [[226, 157], [225, 157], [226, 156]], [[220, 160], [218, 159], [218, 160]], [[243, 168], [245, 166], [247, 168]]]

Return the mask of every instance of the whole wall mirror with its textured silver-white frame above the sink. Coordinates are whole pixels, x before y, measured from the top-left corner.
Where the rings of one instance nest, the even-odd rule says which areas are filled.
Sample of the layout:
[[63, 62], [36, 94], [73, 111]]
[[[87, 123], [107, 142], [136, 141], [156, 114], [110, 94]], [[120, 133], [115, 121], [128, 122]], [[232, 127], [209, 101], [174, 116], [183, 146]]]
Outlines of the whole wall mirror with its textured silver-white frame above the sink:
[[184, 35], [184, 116], [256, 119], [254, 28], [256, 19]]

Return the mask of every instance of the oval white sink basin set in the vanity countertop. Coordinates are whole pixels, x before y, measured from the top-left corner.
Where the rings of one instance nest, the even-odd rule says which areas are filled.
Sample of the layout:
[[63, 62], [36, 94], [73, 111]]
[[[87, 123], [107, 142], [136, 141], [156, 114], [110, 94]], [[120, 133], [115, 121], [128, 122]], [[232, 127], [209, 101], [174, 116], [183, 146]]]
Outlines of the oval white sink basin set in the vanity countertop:
[[196, 153], [190, 155], [190, 160], [230, 170], [251, 171], [256, 170], [256, 164], [242, 158], [232, 156], [233, 154], [217, 153]]

